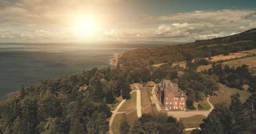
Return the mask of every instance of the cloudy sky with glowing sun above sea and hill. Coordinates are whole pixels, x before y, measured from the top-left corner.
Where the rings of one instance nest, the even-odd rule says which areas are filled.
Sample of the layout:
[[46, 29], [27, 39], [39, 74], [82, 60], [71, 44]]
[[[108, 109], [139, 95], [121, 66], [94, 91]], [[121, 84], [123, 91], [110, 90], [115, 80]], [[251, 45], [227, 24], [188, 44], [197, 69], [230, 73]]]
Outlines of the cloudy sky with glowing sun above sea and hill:
[[0, 0], [0, 43], [192, 42], [256, 28], [256, 0]]

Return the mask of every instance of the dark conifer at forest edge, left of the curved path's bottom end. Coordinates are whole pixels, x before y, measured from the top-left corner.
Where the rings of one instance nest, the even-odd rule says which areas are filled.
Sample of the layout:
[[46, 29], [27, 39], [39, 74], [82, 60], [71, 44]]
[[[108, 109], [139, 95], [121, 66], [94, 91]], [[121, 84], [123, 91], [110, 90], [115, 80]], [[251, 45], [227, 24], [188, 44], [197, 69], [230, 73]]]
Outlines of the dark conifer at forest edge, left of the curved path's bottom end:
[[105, 134], [109, 131], [109, 121], [107, 121], [107, 115], [104, 112], [99, 114], [96, 123], [100, 134]]

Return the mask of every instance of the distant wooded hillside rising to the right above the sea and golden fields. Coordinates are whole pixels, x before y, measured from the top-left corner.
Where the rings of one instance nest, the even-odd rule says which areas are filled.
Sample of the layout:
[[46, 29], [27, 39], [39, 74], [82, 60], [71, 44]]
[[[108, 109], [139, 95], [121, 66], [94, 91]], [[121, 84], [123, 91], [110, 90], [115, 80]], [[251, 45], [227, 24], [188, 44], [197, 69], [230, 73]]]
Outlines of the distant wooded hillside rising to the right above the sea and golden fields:
[[119, 64], [139, 67], [141, 64], [191, 61], [194, 58], [213, 57], [256, 48], [256, 28], [232, 36], [196, 40], [189, 44], [134, 49], [123, 54]]

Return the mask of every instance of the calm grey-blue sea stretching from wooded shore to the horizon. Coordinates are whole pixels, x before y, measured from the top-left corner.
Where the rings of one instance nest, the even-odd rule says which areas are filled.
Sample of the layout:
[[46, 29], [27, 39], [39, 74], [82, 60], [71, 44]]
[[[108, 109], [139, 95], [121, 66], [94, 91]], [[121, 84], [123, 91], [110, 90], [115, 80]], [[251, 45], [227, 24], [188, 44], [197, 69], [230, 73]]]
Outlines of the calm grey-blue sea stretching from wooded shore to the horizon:
[[38, 43], [0, 44], [0, 98], [41, 80], [72, 75], [93, 67], [115, 67], [115, 54], [137, 48], [173, 45], [160, 44], [88, 44]]

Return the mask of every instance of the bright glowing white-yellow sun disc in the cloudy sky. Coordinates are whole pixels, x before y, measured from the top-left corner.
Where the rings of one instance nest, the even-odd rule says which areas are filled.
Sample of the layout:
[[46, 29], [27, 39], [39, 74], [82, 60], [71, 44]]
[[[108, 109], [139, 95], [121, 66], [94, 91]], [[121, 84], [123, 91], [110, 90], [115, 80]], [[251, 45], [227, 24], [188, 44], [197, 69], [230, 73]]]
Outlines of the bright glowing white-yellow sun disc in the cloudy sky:
[[75, 19], [74, 29], [80, 36], [92, 36], [98, 30], [98, 23], [90, 15], [80, 16]]

